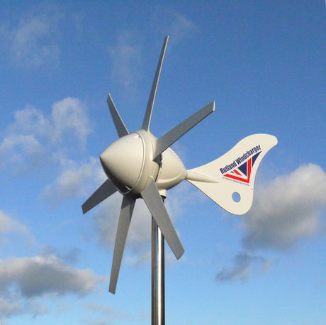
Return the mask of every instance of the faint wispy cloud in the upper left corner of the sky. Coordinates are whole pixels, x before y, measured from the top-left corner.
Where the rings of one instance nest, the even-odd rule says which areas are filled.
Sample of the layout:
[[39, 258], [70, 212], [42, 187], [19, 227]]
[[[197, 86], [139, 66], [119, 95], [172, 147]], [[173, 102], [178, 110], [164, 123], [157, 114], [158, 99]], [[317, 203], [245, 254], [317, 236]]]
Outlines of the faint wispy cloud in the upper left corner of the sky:
[[58, 34], [55, 11], [29, 13], [9, 27], [0, 27], [2, 44], [6, 45], [16, 65], [27, 68], [52, 67], [60, 60], [60, 47], [55, 38]]

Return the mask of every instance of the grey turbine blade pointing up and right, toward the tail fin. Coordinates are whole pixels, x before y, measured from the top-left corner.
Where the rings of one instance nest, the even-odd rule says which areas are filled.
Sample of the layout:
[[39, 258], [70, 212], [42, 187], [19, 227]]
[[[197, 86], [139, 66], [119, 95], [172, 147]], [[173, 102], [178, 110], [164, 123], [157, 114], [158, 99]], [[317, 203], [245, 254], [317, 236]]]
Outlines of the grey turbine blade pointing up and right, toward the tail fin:
[[180, 123], [175, 128], [172, 128], [169, 132], [165, 133], [164, 136], [157, 139], [157, 145], [154, 153], [154, 159], [157, 158], [164, 150], [169, 148], [174, 142], [176, 142], [184, 133], [188, 132], [193, 126], [196, 126], [201, 120], [205, 119], [215, 109], [215, 101], [206, 105], [197, 113], [191, 115], [188, 119]]

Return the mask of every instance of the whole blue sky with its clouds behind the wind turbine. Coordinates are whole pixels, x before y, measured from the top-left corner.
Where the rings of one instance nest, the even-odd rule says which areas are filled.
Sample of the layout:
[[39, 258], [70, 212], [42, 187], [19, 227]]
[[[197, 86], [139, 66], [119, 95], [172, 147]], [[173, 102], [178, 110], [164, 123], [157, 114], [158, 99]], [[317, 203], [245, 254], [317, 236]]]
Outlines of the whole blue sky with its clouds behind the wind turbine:
[[145, 205], [113, 295], [120, 194], [81, 204], [117, 139], [106, 96], [141, 127], [165, 35], [152, 133], [216, 105], [173, 145], [187, 168], [279, 139], [244, 216], [187, 182], [168, 192], [185, 253], [167, 248], [167, 324], [325, 324], [325, 1], [155, 2], [1, 1], [1, 324], [150, 324]]

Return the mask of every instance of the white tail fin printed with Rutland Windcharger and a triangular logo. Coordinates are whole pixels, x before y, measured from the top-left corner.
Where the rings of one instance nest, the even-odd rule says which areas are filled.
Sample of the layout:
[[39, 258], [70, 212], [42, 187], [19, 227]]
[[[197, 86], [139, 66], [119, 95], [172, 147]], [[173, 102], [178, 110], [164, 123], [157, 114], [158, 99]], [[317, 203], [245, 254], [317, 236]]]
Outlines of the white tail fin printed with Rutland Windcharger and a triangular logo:
[[222, 157], [187, 170], [186, 180], [226, 211], [245, 214], [252, 206], [258, 165], [276, 144], [269, 134], [247, 136]]

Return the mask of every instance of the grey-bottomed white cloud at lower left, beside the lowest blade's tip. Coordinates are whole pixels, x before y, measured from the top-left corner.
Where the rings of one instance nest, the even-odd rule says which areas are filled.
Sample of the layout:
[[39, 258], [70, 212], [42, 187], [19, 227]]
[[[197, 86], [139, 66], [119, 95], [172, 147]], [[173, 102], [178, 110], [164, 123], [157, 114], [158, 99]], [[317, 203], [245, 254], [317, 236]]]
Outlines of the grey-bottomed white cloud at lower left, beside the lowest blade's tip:
[[36, 298], [45, 294], [86, 296], [105, 280], [91, 270], [72, 268], [54, 255], [0, 260], [0, 311], [6, 316], [40, 314], [46, 307]]

